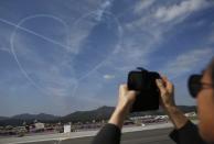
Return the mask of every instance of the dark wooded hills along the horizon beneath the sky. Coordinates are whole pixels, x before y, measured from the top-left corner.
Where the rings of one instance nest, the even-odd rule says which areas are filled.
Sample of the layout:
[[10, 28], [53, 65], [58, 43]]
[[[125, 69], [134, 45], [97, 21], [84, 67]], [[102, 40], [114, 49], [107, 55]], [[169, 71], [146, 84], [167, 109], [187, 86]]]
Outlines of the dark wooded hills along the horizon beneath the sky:
[[[196, 112], [195, 106], [179, 106], [179, 108], [183, 112]], [[23, 125], [25, 122], [26, 124], [32, 124], [35, 120], [43, 123], [86, 123], [86, 122], [93, 122], [93, 121], [103, 121], [108, 120], [114, 111], [114, 107], [100, 107], [96, 110], [92, 111], [77, 111], [71, 114], [67, 114], [65, 117], [56, 117], [51, 114], [19, 114], [11, 118], [3, 118], [0, 119], [0, 126], [6, 125]], [[143, 117], [143, 115], [163, 115], [165, 114], [162, 109], [159, 109], [158, 111], [147, 111], [147, 112], [137, 112], [131, 113], [129, 117]]]

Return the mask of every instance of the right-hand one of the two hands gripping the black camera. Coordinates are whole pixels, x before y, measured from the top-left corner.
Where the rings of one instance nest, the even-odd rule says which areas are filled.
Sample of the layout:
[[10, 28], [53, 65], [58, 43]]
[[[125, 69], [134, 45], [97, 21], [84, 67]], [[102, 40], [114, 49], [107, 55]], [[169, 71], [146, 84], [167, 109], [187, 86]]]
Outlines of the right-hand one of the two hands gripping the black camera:
[[156, 82], [160, 90], [161, 107], [163, 107], [163, 109], [175, 107], [173, 84], [168, 80], [167, 77], [161, 77], [161, 79], [157, 79]]

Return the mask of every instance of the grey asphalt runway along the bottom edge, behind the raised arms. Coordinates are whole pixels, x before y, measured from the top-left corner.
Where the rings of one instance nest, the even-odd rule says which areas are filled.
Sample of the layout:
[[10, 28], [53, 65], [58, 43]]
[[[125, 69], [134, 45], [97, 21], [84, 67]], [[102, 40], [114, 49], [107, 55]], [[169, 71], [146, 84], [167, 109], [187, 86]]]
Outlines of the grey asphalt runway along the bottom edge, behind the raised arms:
[[[169, 139], [172, 128], [122, 133], [121, 144], [174, 144]], [[90, 144], [93, 136], [61, 139], [19, 144]]]

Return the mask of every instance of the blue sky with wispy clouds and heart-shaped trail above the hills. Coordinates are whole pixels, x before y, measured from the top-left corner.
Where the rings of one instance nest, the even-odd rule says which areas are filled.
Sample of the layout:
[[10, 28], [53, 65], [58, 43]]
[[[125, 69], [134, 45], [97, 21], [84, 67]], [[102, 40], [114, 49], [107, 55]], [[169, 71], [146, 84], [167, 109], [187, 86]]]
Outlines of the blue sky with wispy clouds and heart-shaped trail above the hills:
[[212, 0], [1, 0], [0, 115], [64, 115], [117, 103], [136, 67], [175, 85], [214, 55]]

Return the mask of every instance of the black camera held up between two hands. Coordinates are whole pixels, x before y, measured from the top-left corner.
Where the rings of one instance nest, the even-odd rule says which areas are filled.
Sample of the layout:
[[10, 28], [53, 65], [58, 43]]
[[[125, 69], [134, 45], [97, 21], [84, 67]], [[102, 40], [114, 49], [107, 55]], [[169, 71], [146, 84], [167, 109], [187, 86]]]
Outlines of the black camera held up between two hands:
[[156, 85], [156, 79], [159, 78], [158, 73], [148, 71], [143, 68], [138, 68], [138, 70], [128, 74], [128, 89], [139, 91], [131, 112], [159, 109], [160, 91]]

